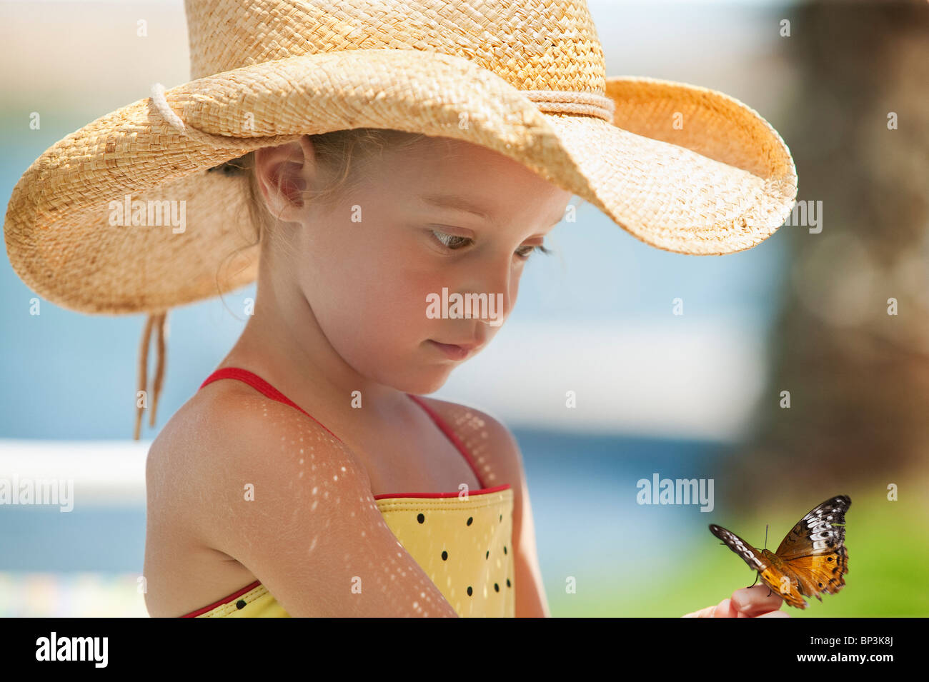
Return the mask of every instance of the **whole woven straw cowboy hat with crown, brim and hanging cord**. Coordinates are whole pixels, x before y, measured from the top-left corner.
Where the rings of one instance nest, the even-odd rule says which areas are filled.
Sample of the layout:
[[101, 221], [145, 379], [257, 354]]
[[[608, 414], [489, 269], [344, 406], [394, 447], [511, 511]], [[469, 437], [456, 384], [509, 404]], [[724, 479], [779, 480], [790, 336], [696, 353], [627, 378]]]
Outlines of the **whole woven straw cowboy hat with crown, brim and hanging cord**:
[[[193, 80], [155, 84], [48, 148], [13, 189], [4, 228], [10, 264], [48, 301], [148, 314], [139, 389], [156, 329], [151, 426], [167, 310], [257, 276], [255, 246], [216, 282], [256, 233], [241, 186], [209, 173], [257, 148], [361, 127], [456, 138], [651, 246], [695, 255], [750, 249], [792, 210], [791, 153], [764, 118], [696, 85], [608, 78], [578, 0], [186, 0], [186, 11]], [[137, 201], [181, 206], [186, 225], [113, 219]]]

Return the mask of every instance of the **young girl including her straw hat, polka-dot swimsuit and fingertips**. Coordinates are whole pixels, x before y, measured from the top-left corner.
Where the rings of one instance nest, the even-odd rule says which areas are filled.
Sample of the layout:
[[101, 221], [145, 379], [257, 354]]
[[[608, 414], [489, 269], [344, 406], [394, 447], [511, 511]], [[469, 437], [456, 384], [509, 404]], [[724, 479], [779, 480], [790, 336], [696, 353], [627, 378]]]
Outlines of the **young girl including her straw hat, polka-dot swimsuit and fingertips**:
[[[581, 4], [365, 5], [189, 0], [198, 80], [69, 135], [10, 201], [36, 291], [150, 314], [152, 424], [166, 310], [257, 279], [241, 338], [150, 449], [152, 616], [548, 615], [515, 439], [421, 394], [491, 342], [575, 194], [693, 254], [751, 248], [790, 212], [764, 119], [607, 79]], [[183, 219], [127, 226], [124, 196]], [[489, 304], [436, 315], [449, 294]], [[780, 602], [758, 586], [710, 611]]]

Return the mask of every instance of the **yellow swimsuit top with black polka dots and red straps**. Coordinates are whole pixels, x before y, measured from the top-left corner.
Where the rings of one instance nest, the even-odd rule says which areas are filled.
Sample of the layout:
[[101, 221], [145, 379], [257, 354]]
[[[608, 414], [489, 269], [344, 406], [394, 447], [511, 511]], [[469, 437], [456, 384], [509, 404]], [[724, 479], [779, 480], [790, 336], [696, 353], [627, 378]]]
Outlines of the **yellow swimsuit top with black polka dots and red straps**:
[[[245, 381], [268, 398], [312, 418], [267, 381], [239, 367], [217, 369], [201, 384]], [[451, 440], [483, 485], [478, 468], [454, 431], [428, 405], [408, 393]], [[315, 419], [314, 419], [315, 420]], [[319, 423], [317, 421], [317, 423]], [[322, 427], [325, 429], [325, 426]], [[326, 429], [326, 431], [329, 431]], [[334, 433], [329, 431], [334, 437]], [[461, 617], [516, 615], [513, 562], [513, 489], [509, 483], [459, 493], [374, 495], [374, 502], [400, 545], [410, 553]], [[260, 581], [182, 618], [288, 618]]]

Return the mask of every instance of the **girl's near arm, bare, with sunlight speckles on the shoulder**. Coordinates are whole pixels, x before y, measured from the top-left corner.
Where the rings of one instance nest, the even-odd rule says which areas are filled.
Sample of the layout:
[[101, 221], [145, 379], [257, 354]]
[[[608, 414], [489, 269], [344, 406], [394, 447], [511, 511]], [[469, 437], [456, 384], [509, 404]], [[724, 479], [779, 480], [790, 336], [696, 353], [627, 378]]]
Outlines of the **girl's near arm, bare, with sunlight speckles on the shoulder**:
[[212, 414], [188, 444], [206, 546], [240, 561], [294, 617], [457, 617], [347, 447], [281, 403], [240, 399]]

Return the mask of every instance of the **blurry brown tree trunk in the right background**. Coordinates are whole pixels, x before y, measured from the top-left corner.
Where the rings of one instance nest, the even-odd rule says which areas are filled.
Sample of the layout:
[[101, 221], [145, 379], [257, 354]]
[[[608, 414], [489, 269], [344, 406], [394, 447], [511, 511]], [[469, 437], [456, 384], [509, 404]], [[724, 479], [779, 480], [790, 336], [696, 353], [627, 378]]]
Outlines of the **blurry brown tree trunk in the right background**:
[[775, 237], [792, 263], [770, 381], [726, 476], [737, 504], [812, 507], [853, 484], [905, 483], [929, 462], [929, 3], [813, 4], [785, 18], [798, 90], [781, 133], [798, 202], [822, 201], [822, 231], [788, 224]]

